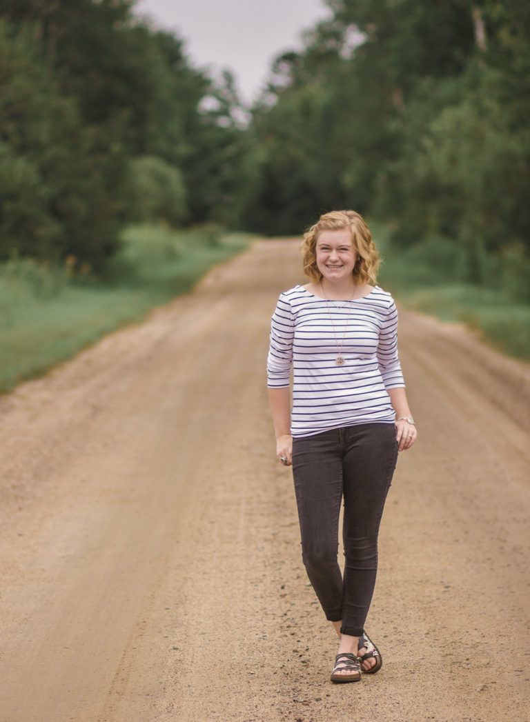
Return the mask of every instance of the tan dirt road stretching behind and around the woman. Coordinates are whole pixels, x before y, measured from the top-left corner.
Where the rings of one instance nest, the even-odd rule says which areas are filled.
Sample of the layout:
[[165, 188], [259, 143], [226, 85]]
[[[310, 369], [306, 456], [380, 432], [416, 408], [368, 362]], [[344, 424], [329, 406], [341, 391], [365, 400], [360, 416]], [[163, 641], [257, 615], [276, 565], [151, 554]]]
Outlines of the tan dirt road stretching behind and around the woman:
[[401, 313], [384, 664], [334, 686], [264, 388], [298, 269], [257, 243], [0, 399], [0, 722], [530, 721], [530, 367]]

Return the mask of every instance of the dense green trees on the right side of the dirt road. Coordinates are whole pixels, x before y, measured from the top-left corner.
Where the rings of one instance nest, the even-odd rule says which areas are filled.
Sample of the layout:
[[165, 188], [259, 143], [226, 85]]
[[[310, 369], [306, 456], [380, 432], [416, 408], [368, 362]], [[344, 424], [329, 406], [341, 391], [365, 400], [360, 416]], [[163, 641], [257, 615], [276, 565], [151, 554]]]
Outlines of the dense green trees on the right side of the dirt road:
[[247, 227], [349, 206], [447, 274], [530, 297], [530, 4], [328, 0], [255, 109]]

